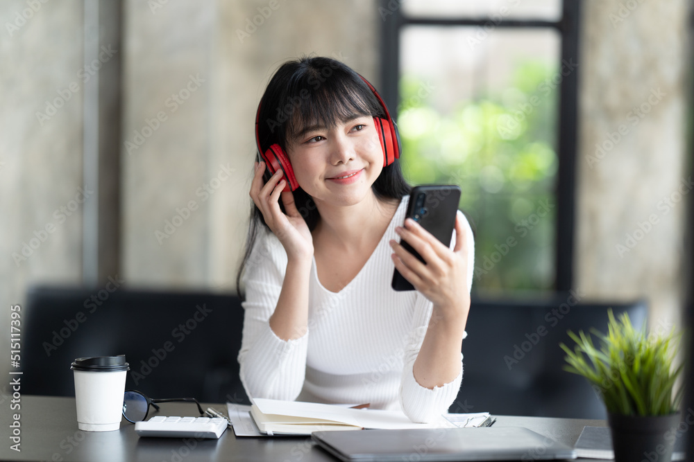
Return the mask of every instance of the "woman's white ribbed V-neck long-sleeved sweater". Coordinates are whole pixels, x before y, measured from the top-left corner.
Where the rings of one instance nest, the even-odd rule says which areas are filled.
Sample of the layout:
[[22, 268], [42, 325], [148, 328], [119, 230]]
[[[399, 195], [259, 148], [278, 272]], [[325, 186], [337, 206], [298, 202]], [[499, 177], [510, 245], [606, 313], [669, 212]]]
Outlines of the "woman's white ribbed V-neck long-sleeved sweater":
[[[246, 300], [241, 380], [248, 396], [314, 402], [371, 403], [401, 409], [414, 422], [427, 422], [448, 409], [457, 396], [461, 371], [443, 387], [426, 389], [412, 366], [432, 313], [417, 291], [391, 289], [393, 262], [389, 240], [399, 240], [405, 220], [403, 198], [378, 246], [357, 276], [340, 292], [321, 285], [312, 265], [307, 333], [284, 341], [271, 330], [287, 268], [287, 254], [270, 232], [258, 236], [244, 269]], [[468, 238], [468, 291], [472, 286], [474, 242]], [[452, 246], [455, 245], [455, 232]], [[462, 360], [462, 355], [461, 355]]]

